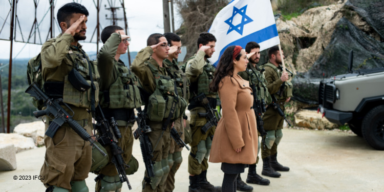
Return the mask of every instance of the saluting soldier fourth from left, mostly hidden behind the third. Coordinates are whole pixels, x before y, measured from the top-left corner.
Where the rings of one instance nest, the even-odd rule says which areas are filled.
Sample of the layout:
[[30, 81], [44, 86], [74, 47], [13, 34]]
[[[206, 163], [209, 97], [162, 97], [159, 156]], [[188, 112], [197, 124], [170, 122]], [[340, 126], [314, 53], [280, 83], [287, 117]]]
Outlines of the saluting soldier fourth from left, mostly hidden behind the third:
[[[186, 78], [183, 71], [177, 65], [177, 58], [181, 53], [181, 39], [179, 35], [175, 33], [165, 33], [165, 38], [170, 44], [170, 49], [168, 52], [168, 58], [164, 59], [164, 62], [168, 67], [170, 67], [170, 71], [172, 72], [172, 76], [175, 79], [177, 84], [177, 91], [180, 96], [184, 98], [184, 100], [189, 99], [189, 81]], [[175, 51], [176, 50], [176, 51]], [[180, 138], [184, 141], [184, 127], [186, 125], [186, 115], [183, 114], [182, 117], [175, 120], [175, 129], [177, 132], [181, 132]], [[175, 174], [179, 169], [183, 158], [181, 156], [181, 151], [183, 147], [180, 147], [175, 140], [170, 140], [169, 145], [169, 154], [168, 154], [168, 164], [170, 171], [168, 173], [167, 180], [165, 182], [165, 191], [172, 192], [175, 189]]]

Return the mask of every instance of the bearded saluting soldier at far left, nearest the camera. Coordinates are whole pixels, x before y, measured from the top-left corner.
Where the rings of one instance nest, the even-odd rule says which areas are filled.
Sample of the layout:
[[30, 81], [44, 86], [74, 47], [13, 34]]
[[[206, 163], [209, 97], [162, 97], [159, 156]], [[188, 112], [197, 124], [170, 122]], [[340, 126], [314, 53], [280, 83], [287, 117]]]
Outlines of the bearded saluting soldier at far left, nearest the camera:
[[[89, 111], [93, 111], [98, 103], [98, 97], [94, 97], [99, 90], [98, 72], [78, 43], [86, 39], [88, 15], [88, 10], [77, 3], [66, 4], [58, 10], [61, 34], [42, 45], [41, 66], [46, 94], [62, 97], [73, 110], [73, 119], [92, 135]], [[79, 81], [72, 76], [78, 73], [87, 80], [91, 89], [78, 89]], [[69, 112], [66, 106], [63, 108]], [[47, 130], [52, 119], [46, 118]], [[40, 175], [45, 178], [41, 182], [48, 187], [47, 191], [88, 191], [85, 179], [92, 164], [89, 143], [67, 123], [58, 128], [53, 138], [45, 136], [44, 143], [47, 150]]]

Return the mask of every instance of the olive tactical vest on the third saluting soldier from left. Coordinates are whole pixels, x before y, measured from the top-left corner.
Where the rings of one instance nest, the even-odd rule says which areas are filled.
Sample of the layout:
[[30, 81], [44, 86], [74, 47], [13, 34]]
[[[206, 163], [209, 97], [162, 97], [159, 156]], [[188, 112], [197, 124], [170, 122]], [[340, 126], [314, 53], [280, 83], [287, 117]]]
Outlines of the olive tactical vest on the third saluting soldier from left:
[[178, 95], [175, 80], [169, 76], [160, 75], [158, 69], [150, 62], [146, 62], [155, 77], [156, 90], [149, 97], [147, 105], [148, 119], [163, 121], [168, 118], [175, 100], [175, 110], [171, 120], [181, 117], [186, 109], [187, 102]]

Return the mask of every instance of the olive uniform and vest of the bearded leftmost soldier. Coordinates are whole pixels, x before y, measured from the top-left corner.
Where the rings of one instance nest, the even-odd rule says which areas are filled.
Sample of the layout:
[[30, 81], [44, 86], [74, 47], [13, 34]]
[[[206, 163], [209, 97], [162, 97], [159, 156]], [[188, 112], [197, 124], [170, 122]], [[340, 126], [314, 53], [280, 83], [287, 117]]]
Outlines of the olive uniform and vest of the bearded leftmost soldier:
[[[89, 134], [92, 134], [91, 90], [80, 92], [68, 80], [68, 74], [74, 68], [91, 84], [90, 72], [92, 71], [95, 95], [98, 95], [98, 72], [95, 63], [81, 49], [81, 45], [72, 46], [74, 38], [71, 34], [63, 34], [52, 38], [42, 45], [41, 65], [44, 90], [47, 95], [62, 97], [63, 102], [69, 104], [73, 110], [73, 119], [76, 120]], [[92, 65], [93, 64], [93, 65]], [[58, 96], [59, 95], [59, 96]], [[97, 105], [98, 98], [95, 98]], [[63, 106], [69, 112], [69, 110]], [[46, 117], [46, 130], [52, 119]], [[57, 130], [55, 136], [44, 136], [46, 145], [45, 162], [41, 167], [41, 180], [47, 187], [57, 186], [65, 189], [81, 189], [87, 187], [84, 179], [88, 177], [92, 164], [92, 147], [84, 141], [71, 127], [65, 123]], [[79, 182], [79, 183], [78, 183]], [[81, 182], [81, 183], [80, 183]], [[71, 186], [72, 185], [72, 186]], [[80, 186], [81, 185], [81, 186]], [[78, 188], [80, 186], [80, 188]]]

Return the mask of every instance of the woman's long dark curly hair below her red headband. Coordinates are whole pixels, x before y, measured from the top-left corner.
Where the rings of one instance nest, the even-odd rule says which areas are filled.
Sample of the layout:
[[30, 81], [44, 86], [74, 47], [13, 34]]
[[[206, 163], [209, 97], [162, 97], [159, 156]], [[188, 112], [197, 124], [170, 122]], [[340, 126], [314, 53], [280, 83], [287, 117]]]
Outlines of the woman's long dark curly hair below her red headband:
[[211, 83], [209, 83], [209, 90], [211, 92], [219, 91], [219, 84], [225, 76], [229, 75], [233, 77], [233, 59], [240, 60], [240, 57], [242, 56], [240, 53], [236, 58], [233, 58], [234, 47], [236, 46], [230, 46], [225, 49], [223, 55], [220, 57], [218, 67], [215, 71], [214, 79]]

